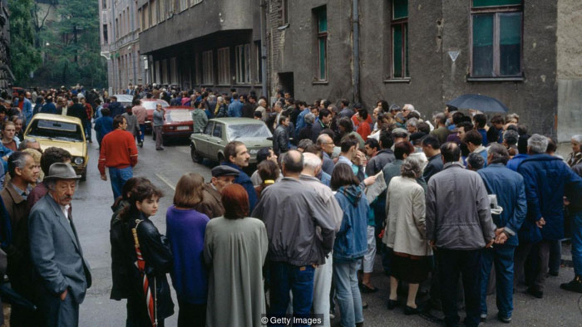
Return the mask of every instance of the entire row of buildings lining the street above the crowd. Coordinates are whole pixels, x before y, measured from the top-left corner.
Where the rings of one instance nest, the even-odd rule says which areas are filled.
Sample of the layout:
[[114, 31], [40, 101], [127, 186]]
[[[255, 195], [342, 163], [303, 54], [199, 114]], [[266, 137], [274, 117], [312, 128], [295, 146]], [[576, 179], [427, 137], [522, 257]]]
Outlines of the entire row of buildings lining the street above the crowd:
[[[564, 141], [582, 119], [578, 0], [100, 0], [109, 85], [413, 103], [489, 95]], [[139, 36], [139, 37], [138, 37]], [[558, 132], [558, 130], [560, 132]]]

